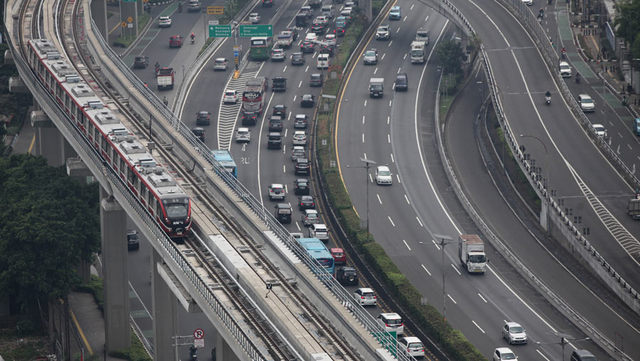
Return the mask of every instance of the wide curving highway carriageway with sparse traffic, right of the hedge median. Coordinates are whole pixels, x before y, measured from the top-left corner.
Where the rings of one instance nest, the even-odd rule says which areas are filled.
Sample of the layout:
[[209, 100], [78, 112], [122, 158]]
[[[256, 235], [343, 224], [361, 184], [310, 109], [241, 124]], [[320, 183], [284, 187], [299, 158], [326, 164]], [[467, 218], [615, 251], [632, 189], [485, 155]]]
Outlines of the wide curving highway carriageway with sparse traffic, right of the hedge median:
[[[360, 157], [390, 165], [395, 183], [392, 187], [375, 186], [373, 179], [369, 179], [372, 183], [368, 210], [371, 233], [412, 283], [442, 312], [442, 295], [439, 295], [442, 290], [441, 253], [432, 245], [432, 239], [434, 234], [455, 237], [461, 230], [447, 209], [449, 204], [442, 204], [438, 194], [441, 190], [434, 189], [432, 178], [438, 168], [430, 167], [429, 159], [425, 159], [427, 155], [422, 157], [423, 152], [428, 153], [425, 147], [434, 146], [433, 130], [429, 126], [432, 124], [434, 93], [430, 90], [437, 88], [438, 73], [433, 69], [426, 71], [428, 75], [424, 83], [420, 82], [423, 88], [418, 91], [422, 97], [418, 98], [416, 87], [417, 80], [422, 77], [422, 67], [410, 65], [404, 55], [417, 28], [429, 28], [435, 40], [442, 35], [440, 31], [444, 30], [444, 21], [423, 6], [416, 8], [417, 3], [412, 1], [399, 1], [398, 4], [404, 11], [410, 9], [405, 12], [405, 15], [410, 15], [401, 23], [389, 22], [394, 28], [400, 28], [392, 37], [395, 41], [371, 41], [367, 46], [378, 48], [380, 56], [386, 54], [385, 58], [378, 66], [359, 64], [348, 80], [343, 100], [348, 97], [349, 101], [341, 103], [337, 127], [339, 167], [351, 199], [358, 213], [364, 217], [366, 187], [362, 184], [363, 171], [348, 169], [346, 165], [361, 165]], [[451, 38], [451, 35], [447, 36]], [[385, 50], [381, 52], [380, 49]], [[390, 89], [399, 69], [407, 72], [411, 80], [415, 79], [407, 93]], [[382, 99], [368, 97], [366, 87], [373, 76], [385, 77], [385, 96]], [[474, 117], [474, 114], [467, 117], [467, 122]], [[498, 263], [499, 273], [489, 272], [484, 277], [474, 276], [471, 279], [461, 273], [454, 248], [455, 245], [445, 247], [446, 277], [451, 280], [447, 281], [447, 319], [455, 328], [462, 330], [484, 355], [490, 357], [496, 347], [506, 346], [497, 331], [503, 320], [523, 323], [528, 329], [530, 342], [558, 342], [551, 335], [553, 331], [574, 330], [567, 320], [554, 315], [539, 296], [533, 295], [533, 300], [525, 298], [524, 292], [530, 295], [526, 284], [508, 274], [513, 273], [513, 270], [508, 271], [508, 266]], [[453, 269], [449, 268], [449, 263]], [[514, 288], [518, 289], [517, 293]], [[477, 312], [479, 308], [481, 313]], [[543, 309], [548, 312], [540, 312]], [[528, 345], [515, 350], [520, 357], [531, 360], [541, 356], [553, 360], [560, 353], [560, 347], [555, 345]]]

